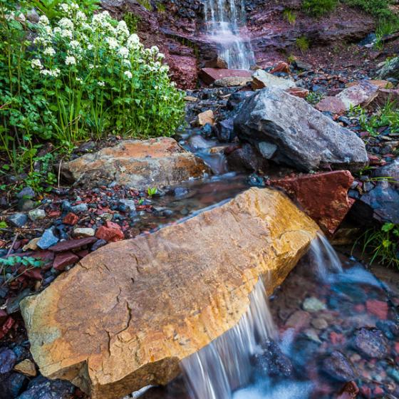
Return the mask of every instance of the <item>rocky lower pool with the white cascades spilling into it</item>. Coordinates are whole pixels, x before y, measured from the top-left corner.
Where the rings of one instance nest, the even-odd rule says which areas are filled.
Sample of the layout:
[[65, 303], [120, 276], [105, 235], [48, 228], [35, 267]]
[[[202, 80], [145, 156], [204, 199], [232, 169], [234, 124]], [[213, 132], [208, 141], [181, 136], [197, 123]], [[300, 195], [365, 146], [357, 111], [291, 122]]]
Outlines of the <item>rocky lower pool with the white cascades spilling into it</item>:
[[182, 362], [187, 391], [177, 380], [144, 398], [398, 397], [397, 293], [321, 235], [270, 306], [262, 286], [235, 328]]

